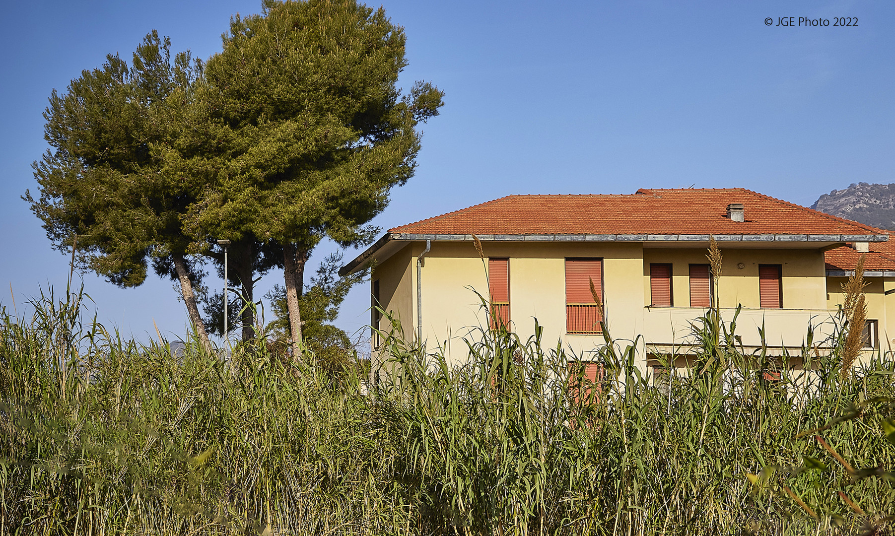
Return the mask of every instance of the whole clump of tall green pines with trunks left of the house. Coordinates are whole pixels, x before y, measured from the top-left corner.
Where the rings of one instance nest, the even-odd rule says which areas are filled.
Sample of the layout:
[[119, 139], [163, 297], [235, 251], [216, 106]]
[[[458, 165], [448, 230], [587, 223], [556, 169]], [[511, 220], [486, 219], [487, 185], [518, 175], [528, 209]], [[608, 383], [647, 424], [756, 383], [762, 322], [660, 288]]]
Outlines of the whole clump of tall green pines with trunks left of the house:
[[[405, 41], [381, 7], [354, 0], [265, 1], [205, 63], [172, 58], [152, 31], [130, 64], [108, 55], [53, 92], [52, 150], [34, 165], [39, 198], [25, 200], [55, 248], [77, 235], [82, 268], [122, 286], [149, 264], [177, 280], [209, 350], [205, 324], [218, 322], [197, 302], [203, 266], [224, 275], [217, 241], [229, 241], [243, 341], [257, 335], [257, 277], [283, 268], [297, 357], [305, 262], [325, 238], [371, 242], [370, 220], [413, 177], [420, 123], [443, 105], [429, 82], [397, 87]], [[213, 319], [222, 302], [206, 303]]]

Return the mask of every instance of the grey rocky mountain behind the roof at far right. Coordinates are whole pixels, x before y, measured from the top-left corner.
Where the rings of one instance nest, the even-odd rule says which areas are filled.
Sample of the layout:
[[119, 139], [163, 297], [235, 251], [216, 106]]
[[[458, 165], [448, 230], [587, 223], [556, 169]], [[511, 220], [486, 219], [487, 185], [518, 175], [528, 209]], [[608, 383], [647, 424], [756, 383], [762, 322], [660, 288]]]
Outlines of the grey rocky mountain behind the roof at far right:
[[824, 193], [811, 208], [864, 225], [895, 229], [895, 184], [852, 184], [845, 190]]

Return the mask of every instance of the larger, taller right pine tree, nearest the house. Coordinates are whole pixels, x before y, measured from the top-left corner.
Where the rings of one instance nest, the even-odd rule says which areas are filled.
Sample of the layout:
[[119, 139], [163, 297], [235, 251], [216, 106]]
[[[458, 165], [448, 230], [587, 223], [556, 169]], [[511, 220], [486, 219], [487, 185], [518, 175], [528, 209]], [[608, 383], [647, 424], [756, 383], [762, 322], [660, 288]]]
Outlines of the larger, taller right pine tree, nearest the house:
[[[280, 251], [297, 354], [311, 251], [326, 236], [342, 245], [371, 240], [366, 224], [413, 176], [417, 124], [438, 115], [443, 94], [416, 82], [402, 98], [405, 34], [382, 8], [354, 0], [263, 6], [231, 21], [206, 67], [202, 100], [216, 140], [209, 160], [220, 173], [186, 220], [197, 251], [212, 236], [278, 245], [269, 252]], [[242, 282], [251, 285], [251, 274]]]

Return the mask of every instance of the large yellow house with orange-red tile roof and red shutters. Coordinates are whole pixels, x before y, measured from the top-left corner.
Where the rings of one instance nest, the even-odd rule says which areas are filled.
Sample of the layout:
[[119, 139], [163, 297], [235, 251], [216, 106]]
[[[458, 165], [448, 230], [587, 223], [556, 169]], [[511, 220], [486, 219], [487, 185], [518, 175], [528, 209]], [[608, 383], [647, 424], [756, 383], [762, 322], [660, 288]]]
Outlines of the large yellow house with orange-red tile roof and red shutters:
[[[717, 287], [706, 259], [710, 236], [723, 255]], [[586, 356], [603, 344], [592, 281], [609, 333], [643, 337], [638, 366], [646, 370], [652, 353], [686, 353], [690, 322], [711, 300], [727, 319], [742, 306], [737, 334], [747, 349], [761, 345], [763, 327], [775, 351], [799, 353], [809, 323], [823, 339], [840, 300], [843, 276], [825, 254], [888, 238], [745, 189], [518, 195], [390, 229], [341, 273], [371, 266], [372, 301], [401, 320], [406, 336], [443, 347], [455, 362], [466, 359], [470, 328], [489, 324], [476, 293], [520, 336], [531, 335], [537, 319], [546, 345], [560, 341]], [[883, 303], [895, 277], [878, 283], [868, 318], [895, 334]], [[371, 324], [378, 322], [373, 311]]]

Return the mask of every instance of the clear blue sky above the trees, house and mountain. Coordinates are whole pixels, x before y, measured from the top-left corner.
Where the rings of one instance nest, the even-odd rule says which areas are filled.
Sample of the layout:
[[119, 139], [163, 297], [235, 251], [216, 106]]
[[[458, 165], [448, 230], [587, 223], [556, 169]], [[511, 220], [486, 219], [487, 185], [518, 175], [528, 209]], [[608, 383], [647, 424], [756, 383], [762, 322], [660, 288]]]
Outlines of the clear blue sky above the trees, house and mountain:
[[[511, 193], [744, 186], [811, 205], [849, 183], [895, 182], [891, 2], [383, 6], [407, 34], [403, 87], [424, 79], [446, 93], [423, 126], [416, 176], [373, 222], [383, 229]], [[47, 149], [41, 113], [52, 89], [107, 53], [129, 58], [149, 30], [208, 57], [232, 14], [259, 11], [255, 0], [4, 3], [0, 304], [12, 310], [12, 290], [21, 313], [68, 275], [20, 199], [37, 191], [30, 164]], [[830, 26], [776, 26], [790, 16]], [[834, 17], [858, 25], [834, 27]], [[321, 246], [311, 263], [332, 250]], [[256, 295], [281, 280], [271, 272]], [[88, 273], [84, 285], [107, 327], [144, 340], [153, 322], [166, 336], [185, 331], [169, 281], [119, 289]], [[340, 327], [362, 327], [368, 293], [349, 295]]]

